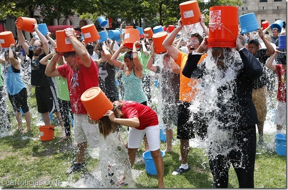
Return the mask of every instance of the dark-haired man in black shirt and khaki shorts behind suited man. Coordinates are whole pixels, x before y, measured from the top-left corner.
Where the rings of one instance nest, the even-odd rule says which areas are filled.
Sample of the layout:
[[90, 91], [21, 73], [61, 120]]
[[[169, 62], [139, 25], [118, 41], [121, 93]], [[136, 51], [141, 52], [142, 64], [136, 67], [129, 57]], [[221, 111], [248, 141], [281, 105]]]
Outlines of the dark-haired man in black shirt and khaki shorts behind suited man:
[[263, 73], [260, 78], [253, 81], [253, 91], [252, 91], [252, 101], [255, 105], [258, 117], [258, 134], [260, 146], [264, 145], [263, 139], [263, 128], [264, 121], [267, 115], [267, 68], [265, 67], [266, 60], [275, 52], [275, 49], [271, 43], [264, 37], [263, 31], [258, 28], [259, 37], [263, 40], [266, 45], [265, 49], [260, 49], [259, 41], [257, 39], [252, 39], [248, 42], [249, 52], [259, 60], [263, 67]]

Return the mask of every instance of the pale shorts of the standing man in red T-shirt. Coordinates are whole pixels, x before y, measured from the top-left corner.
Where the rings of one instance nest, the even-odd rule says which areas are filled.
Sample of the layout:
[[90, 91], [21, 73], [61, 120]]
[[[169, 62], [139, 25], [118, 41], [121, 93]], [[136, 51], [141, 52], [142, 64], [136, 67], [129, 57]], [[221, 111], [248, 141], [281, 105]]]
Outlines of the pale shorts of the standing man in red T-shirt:
[[77, 144], [88, 141], [91, 148], [99, 147], [98, 124], [89, 124], [87, 114], [74, 114], [74, 135]]

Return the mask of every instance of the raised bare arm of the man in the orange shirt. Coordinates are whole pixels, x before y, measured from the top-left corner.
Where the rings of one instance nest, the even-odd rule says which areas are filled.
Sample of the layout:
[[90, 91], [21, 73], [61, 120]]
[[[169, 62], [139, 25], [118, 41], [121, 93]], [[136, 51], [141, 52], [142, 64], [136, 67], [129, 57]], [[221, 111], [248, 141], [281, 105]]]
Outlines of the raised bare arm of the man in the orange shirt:
[[163, 41], [162, 45], [167, 50], [168, 54], [175, 60], [178, 61], [178, 53], [179, 50], [173, 45], [173, 41], [176, 37], [176, 35], [181, 31], [183, 25], [181, 22], [181, 18], [178, 21], [177, 28], [172, 31]]

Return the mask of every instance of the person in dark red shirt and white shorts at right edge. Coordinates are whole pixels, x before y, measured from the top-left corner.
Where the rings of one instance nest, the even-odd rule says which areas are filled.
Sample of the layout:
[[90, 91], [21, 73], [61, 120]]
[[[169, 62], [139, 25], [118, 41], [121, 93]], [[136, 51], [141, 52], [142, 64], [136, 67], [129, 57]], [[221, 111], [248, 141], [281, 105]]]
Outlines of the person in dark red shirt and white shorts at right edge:
[[276, 134], [282, 132], [283, 126], [286, 125], [286, 77], [287, 77], [287, 66], [286, 66], [286, 53], [281, 56], [280, 64], [272, 64], [273, 60], [277, 57], [278, 51], [270, 57], [267, 62], [267, 67], [273, 70], [278, 75], [278, 91], [277, 91], [277, 108], [275, 115], [275, 124], [277, 127]]

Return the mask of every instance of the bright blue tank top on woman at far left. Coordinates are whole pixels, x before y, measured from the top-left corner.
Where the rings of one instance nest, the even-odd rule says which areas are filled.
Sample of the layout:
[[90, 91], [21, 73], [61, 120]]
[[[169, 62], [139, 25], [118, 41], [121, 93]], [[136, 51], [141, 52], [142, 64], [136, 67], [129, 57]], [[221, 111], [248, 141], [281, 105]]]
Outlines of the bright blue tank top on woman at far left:
[[20, 78], [20, 70], [13, 67], [11, 64], [7, 67], [8, 63], [5, 63], [4, 76], [6, 80], [6, 88], [9, 95], [16, 95], [20, 93], [26, 85]]

